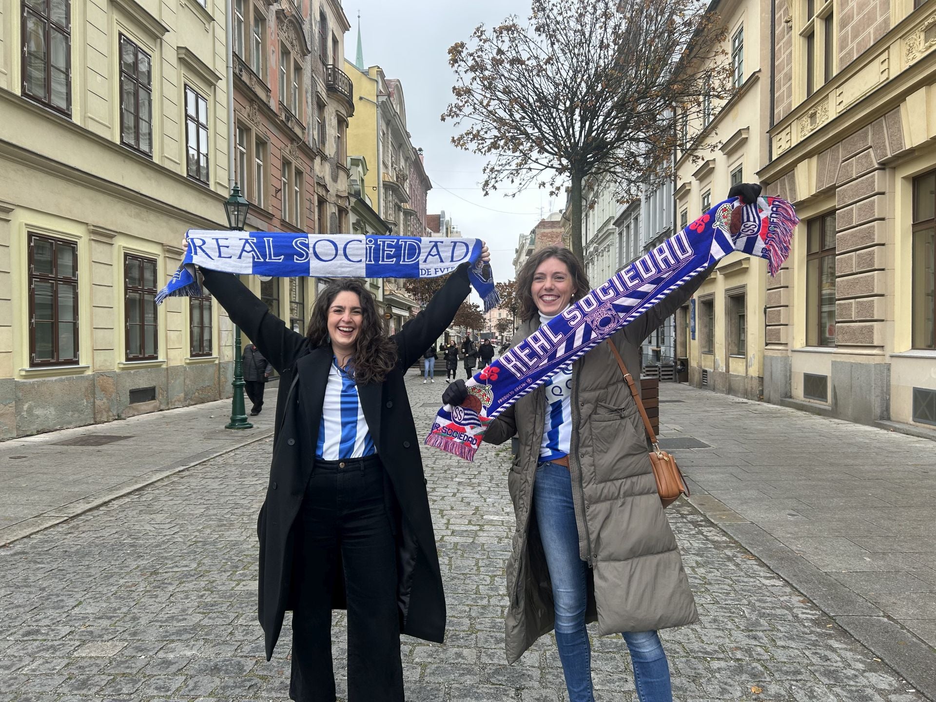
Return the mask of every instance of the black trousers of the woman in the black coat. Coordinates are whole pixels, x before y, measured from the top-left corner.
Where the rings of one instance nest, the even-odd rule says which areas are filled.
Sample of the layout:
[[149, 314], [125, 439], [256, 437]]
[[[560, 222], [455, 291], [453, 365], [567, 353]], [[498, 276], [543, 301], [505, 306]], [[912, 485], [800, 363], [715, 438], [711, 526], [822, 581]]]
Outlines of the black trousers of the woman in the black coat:
[[315, 461], [295, 525], [289, 696], [334, 702], [331, 592], [338, 556], [347, 597], [348, 702], [402, 702], [396, 542], [380, 459]]

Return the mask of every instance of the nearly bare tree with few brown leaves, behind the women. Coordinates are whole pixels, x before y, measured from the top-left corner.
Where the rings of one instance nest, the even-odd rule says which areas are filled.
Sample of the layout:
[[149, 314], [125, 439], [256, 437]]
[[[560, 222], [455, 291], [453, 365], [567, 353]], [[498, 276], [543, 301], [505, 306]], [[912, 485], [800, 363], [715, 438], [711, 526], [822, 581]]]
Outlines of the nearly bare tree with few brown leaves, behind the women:
[[[486, 195], [531, 185], [572, 200], [572, 250], [582, 256], [582, 181], [605, 177], [621, 201], [671, 176], [676, 110], [700, 118], [728, 93], [724, 27], [701, 0], [532, 0], [479, 25], [448, 50], [455, 99], [442, 115], [452, 143], [490, 158]], [[709, 148], [712, 148], [709, 145]]]

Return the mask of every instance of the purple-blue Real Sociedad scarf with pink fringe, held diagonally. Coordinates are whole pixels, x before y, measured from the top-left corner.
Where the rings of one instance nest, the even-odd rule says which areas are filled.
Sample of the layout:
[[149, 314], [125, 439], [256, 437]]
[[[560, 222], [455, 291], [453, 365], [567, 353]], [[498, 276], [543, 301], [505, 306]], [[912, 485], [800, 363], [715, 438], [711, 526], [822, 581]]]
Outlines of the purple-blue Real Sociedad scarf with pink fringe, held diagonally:
[[793, 206], [779, 197], [718, 203], [475, 373], [461, 406], [439, 410], [426, 444], [473, 460], [494, 417], [724, 256], [739, 251], [766, 258], [776, 275], [798, 222]]

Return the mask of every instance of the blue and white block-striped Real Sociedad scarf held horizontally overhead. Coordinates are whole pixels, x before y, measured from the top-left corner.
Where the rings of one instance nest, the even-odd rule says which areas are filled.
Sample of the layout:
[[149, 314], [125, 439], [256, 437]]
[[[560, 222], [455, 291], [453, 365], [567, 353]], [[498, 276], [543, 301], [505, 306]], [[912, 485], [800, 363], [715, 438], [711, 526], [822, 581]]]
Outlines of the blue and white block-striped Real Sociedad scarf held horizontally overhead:
[[480, 239], [201, 229], [189, 229], [185, 236], [188, 250], [182, 265], [156, 295], [156, 302], [202, 295], [195, 266], [281, 278], [435, 278], [465, 261], [472, 264], [468, 279], [484, 300], [484, 311], [500, 302], [490, 266], [481, 261]]

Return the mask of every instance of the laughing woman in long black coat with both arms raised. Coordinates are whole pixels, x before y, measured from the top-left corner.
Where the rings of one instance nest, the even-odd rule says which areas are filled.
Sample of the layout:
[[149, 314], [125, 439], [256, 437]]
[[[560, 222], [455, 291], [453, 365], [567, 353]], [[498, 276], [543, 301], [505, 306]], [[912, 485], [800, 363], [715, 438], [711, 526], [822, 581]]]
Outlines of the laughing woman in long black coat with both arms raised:
[[[481, 256], [489, 260], [487, 247]], [[289, 696], [333, 702], [331, 612], [346, 608], [348, 702], [399, 702], [401, 633], [441, 642], [446, 627], [403, 371], [451, 324], [470, 291], [468, 265], [393, 336], [357, 279], [319, 293], [303, 336], [236, 276], [202, 274], [282, 378], [270, 483], [257, 520], [267, 659], [291, 609]]]

